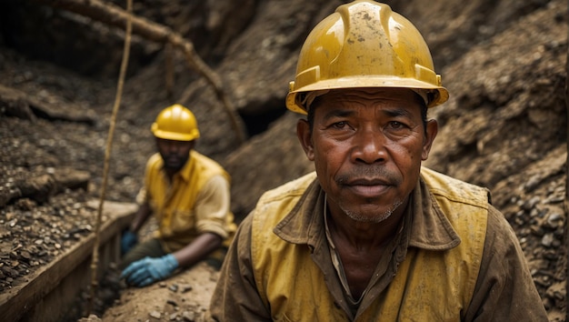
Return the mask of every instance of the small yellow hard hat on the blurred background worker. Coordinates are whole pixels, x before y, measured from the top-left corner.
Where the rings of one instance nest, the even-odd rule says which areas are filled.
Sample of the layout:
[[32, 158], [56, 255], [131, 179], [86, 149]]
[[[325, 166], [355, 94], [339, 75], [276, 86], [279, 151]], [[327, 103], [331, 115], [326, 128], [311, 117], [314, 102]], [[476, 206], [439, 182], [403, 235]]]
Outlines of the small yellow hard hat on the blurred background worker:
[[150, 129], [156, 137], [166, 140], [192, 141], [200, 137], [194, 114], [179, 104], [162, 110]]

